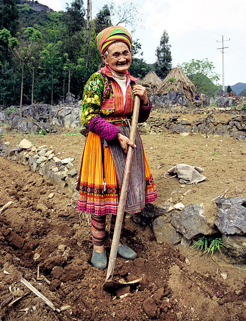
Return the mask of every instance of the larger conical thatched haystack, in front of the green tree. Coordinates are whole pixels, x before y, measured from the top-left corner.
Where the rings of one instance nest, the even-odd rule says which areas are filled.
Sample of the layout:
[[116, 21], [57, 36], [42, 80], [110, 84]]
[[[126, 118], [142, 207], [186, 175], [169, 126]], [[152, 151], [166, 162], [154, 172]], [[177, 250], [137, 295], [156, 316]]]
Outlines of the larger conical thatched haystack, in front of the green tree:
[[167, 95], [169, 91], [183, 91], [189, 102], [194, 101], [196, 87], [180, 68], [173, 68], [163, 82], [157, 87], [158, 96]]

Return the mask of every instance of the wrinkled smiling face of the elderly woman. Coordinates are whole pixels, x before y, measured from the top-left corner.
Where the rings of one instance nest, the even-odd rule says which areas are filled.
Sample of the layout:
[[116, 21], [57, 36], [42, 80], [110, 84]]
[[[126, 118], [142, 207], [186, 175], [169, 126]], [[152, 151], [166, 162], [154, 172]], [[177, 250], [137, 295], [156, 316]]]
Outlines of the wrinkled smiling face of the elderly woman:
[[[107, 53], [108, 52], [108, 53]], [[103, 62], [118, 74], [125, 74], [131, 65], [131, 51], [124, 42], [115, 42], [101, 55]]]

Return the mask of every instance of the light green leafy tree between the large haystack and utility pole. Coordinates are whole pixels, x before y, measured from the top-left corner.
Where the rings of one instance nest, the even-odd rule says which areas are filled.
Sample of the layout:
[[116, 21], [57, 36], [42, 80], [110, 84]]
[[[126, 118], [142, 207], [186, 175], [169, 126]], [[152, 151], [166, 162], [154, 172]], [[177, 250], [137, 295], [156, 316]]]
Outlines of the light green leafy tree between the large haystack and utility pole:
[[208, 96], [214, 96], [219, 90], [219, 74], [216, 74], [214, 65], [207, 58], [203, 60], [192, 59], [178, 65], [179, 68], [195, 84], [196, 90]]

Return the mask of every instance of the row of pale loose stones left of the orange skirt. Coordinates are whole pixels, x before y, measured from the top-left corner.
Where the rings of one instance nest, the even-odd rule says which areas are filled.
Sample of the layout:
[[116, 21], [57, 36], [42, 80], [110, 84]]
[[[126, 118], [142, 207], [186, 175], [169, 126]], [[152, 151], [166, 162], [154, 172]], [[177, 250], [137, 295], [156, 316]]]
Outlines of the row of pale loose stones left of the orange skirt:
[[15, 160], [22, 165], [29, 165], [34, 172], [46, 176], [53, 184], [59, 187], [68, 187], [75, 199], [78, 191], [75, 189], [78, 174], [74, 168], [74, 158], [60, 159], [55, 156], [55, 151], [46, 145], [36, 147], [27, 139], [23, 139], [14, 148], [8, 148], [8, 144], [0, 144], [0, 156]]

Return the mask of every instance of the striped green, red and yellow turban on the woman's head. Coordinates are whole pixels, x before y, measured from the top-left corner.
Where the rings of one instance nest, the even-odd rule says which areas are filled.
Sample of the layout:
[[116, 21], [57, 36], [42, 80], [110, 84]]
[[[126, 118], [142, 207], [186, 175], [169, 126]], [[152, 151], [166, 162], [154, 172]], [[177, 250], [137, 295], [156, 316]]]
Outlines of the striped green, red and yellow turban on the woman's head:
[[101, 54], [103, 54], [104, 51], [115, 42], [124, 42], [131, 50], [132, 37], [125, 28], [113, 26], [99, 32], [95, 41]]

